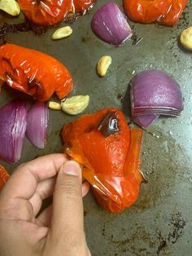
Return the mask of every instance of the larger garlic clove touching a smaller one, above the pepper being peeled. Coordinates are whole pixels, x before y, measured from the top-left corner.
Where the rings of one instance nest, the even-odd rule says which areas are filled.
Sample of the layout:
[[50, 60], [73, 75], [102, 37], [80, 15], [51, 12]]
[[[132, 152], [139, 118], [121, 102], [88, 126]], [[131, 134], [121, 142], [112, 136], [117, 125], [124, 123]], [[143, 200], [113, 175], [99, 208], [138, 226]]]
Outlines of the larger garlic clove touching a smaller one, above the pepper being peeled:
[[82, 113], [89, 105], [89, 95], [78, 95], [66, 99], [61, 103], [63, 112], [75, 116]]

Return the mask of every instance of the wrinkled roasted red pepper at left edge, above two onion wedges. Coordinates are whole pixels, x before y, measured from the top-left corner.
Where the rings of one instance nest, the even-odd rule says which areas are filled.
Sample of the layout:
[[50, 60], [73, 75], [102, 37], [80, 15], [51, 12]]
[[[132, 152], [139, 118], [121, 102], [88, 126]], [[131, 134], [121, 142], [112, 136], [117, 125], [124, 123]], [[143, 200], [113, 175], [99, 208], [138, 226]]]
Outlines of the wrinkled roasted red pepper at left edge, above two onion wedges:
[[58, 60], [39, 51], [0, 46], [0, 78], [13, 89], [46, 101], [55, 92], [63, 99], [72, 90], [72, 76]]

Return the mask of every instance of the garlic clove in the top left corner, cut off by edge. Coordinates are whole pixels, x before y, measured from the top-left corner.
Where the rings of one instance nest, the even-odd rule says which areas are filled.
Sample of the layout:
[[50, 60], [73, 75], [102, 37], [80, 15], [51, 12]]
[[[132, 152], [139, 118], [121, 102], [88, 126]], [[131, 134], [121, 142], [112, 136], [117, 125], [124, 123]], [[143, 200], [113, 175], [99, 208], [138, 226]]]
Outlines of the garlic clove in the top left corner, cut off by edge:
[[20, 6], [15, 0], [1, 0], [0, 10], [13, 16], [20, 14]]

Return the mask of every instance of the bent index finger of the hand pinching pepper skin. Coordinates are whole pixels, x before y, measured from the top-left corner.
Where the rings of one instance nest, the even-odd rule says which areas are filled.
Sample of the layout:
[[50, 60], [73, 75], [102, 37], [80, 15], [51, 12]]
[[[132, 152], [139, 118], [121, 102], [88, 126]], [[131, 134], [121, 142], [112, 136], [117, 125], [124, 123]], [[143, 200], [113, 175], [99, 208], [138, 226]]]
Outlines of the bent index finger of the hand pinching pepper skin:
[[11, 175], [1, 196], [6, 196], [6, 200], [16, 197], [31, 198], [36, 192], [37, 184], [55, 176], [65, 161], [67, 158], [64, 154], [51, 154], [24, 163]]

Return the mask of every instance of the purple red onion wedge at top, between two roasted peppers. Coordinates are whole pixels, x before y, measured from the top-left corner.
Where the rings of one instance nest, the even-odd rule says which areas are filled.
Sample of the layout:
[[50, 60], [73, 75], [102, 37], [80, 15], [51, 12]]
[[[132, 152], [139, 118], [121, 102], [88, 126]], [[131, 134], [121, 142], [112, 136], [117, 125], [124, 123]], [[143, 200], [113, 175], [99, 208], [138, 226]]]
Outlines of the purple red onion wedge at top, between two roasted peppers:
[[120, 46], [133, 35], [128, 21], [115, 2], [107, 2], [98, 9], [91, 21], [91, 27], [98, 38], [116, 46]]

